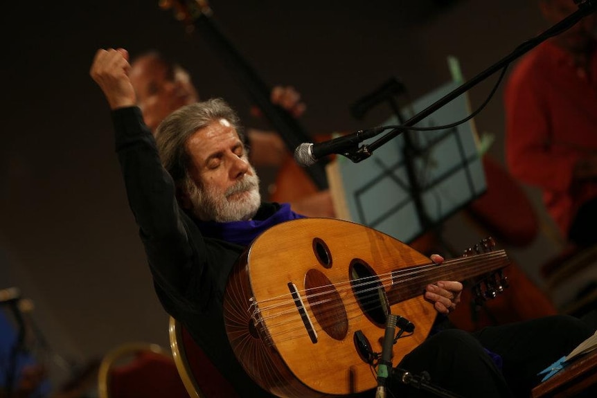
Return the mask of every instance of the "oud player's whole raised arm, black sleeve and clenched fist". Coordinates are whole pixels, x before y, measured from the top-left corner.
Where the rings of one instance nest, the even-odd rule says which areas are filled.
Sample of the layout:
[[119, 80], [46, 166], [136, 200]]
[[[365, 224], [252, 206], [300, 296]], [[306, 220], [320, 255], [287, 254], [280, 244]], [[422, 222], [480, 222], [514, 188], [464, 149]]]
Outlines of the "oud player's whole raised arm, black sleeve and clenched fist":
[[[154, 137], [143, 123], [136, 107], [136, 96], [129, 79], [128, 53], [122, 48], [99, 50], [93, 59], [90, 75], [102, 89], [110, 109], [115, 130], [115, 143], [127, 198], [134, 214], [139, 235], [145, 246], [154, 281], [167, 296], [186, 300], [189, 283], [203, 284], [206, 278], [191, 278], [191, 273], [204, 269], [201, 235], [193, 223], [179, 210], [175, 183], [161, 165]], [[190, 244], [189, 236], [195, 245]], [[195, 249], [198, 247], [199, 249]], [[204, 273], [205, 274], [205, 273]], [[197, 286], [195, 291], [205, 291]], [[203, 288], [203, 289], [200, 289]]]

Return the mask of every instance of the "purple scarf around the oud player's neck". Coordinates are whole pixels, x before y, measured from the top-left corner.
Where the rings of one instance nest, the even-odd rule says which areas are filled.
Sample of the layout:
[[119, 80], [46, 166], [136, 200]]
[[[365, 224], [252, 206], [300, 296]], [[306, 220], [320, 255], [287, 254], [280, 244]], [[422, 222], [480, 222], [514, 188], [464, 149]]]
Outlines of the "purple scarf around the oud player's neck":
[[[258, 212], [259, 215], [259, 212]], [[222, 239], [226, 242], [249, 246], [253, 240], [265, 230], [283, 221], [305, 218], [290, 210], [288, 203], [283, 203], [273, 215], [265, 219], [251, 219], [249, 221], [215, 222], [200, 221], [199, 230], [206, 237]]]

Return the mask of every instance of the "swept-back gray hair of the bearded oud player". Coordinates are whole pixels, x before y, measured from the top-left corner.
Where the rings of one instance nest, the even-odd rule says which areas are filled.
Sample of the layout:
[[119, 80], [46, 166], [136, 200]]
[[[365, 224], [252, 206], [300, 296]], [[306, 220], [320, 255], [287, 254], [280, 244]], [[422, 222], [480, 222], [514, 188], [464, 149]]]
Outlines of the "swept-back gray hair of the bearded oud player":
[[172, 112], [157, 127], [155, 132], [157, 150], [161, 163], [176, 183], [188, 179], [190, 154], [186, 152], [186, 141], [211, 122], [226, 119], [235, 128], [240, 141], [245, 143], [244, 132], [236, 112], [222, 98], [195, 102]]

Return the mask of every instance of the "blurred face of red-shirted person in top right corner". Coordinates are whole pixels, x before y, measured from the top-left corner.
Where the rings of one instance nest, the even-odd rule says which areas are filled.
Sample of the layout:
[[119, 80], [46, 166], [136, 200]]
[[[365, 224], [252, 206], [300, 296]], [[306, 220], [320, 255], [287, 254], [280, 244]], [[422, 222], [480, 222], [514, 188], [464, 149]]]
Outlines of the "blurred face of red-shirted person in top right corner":
[[[541, 10], [550, 24], [557, 24], [562, 19], [578, 10], [573, 0], [543, 0]], [[553, 38], [555, 44], [573, 54], [585, 53], [594, 35], [597, 17], [593, 13], [581, 19], [578, 24]]]

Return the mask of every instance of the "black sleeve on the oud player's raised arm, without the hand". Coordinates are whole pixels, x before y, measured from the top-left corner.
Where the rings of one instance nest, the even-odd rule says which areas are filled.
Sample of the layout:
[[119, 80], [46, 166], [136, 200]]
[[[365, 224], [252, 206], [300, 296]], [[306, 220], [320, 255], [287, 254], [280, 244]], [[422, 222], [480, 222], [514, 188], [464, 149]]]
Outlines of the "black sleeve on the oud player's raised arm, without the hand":
[[[166, 295], [177, 307], [192, 307], [200, 302], [197, 295], [209, 297], [212, 288], [203, 275], [208, 258], [204, 239], [178, 206], [175, 183], [161, 165], [139, 108], [116, 109], [112, 120], [129, 206], [159, 296]], [[170, 307], [163, 299], [162, 303]]]

